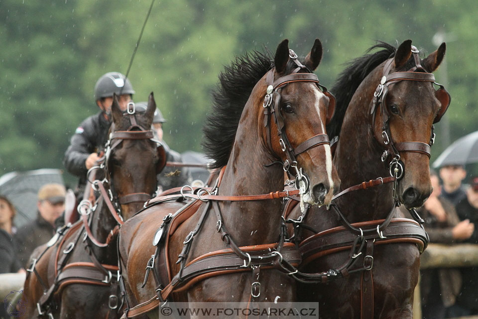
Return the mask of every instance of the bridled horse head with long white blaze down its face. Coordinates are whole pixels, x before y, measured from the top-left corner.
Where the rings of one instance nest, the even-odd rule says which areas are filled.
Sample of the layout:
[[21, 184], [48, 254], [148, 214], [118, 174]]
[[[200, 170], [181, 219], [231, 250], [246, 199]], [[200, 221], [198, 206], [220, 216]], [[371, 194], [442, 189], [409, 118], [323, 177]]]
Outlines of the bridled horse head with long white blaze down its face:
[[[288, 40], [279, 44], [274, 56], [275, 67], [266, 74], [263, 87], [266, 92], [262, 95], [265, 95], [262, 136], [271, 156], [280, 158], [284, 170], [296, 176], [296, 186], [305, 191], [304, 201], [324, 205], [330, 203], [340, 180], [332, 164], [325, 129], [334, 113], [335, 98], [312, 73], [321, 59], [319, 39], [315, 40], [303, 64], [294, 51], [289, 50]], [[273, 114], [274, 121], [270, 121], [267, 128], [269, 113]]]

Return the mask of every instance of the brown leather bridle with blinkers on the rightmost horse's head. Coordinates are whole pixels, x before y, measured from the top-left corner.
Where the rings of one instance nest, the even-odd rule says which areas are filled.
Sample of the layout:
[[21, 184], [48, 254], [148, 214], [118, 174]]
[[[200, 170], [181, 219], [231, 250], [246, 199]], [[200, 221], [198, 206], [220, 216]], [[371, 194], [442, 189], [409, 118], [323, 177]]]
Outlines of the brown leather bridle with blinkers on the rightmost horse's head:
[[[435, 134], [433, 133], [432, 125], [432, 134], [430, 137], [430, 144], [423, 142], [401, 142], [395, 143], [392, 139], [390, 132], [390, 114], [388, 105], [386, 103], [386, 96], [389, 90], [389, 87], [393, 84], [396, 84], [400, 81], [420, 81], [420, 82], [431, 82], [438, 85], [440, 88], [436, 91], [436, 96], [442, 104], [440, 111], [433, 123], [440, 121], [441, 117], [445, 114], [450, 105], [450, 94], [441, 84], [435, 82], [435, 75], [433, 73], [428, 73], [420, 64], [420, 58], [418, 56], [418, 49], [412, 45], [412, 54], [415, 62], [415, 66], [406, 72], [392, 72], [390, 73], [393, 58], [388, 59], [385, 62], [383, 68], [383, 77], [380, 80], [380, 84], [377, 86], [375, 93], [373, 94], [373, 103], [370, 110], [370, 120], [372, 132], [374, 131], [375, 125], [375, 116], [377, 108], [381, 105], [380, 116], [382, 122], [382, 134], [383, 144], [385, 145], [385, 150], [382, 153], [381, 160], [385, 163], [389, 169], [390, 175], [396, 177], [395, 184], [397, 181], [403, 177], [404, 167], [403, 162], [400, 161], [400, 152], [415, 152], [426, 155], [430, 158], [431, 146], [435, 141]], [[380, 142], [380, 141], [379, 141]], [[388, 161], [387, 161], [388, 160]], [[395, 185], [396, 186], [396, 185]], [[396, 188], [396, 187], [395, 187]], [[395, 195], [395, 193], [394, 193]]]

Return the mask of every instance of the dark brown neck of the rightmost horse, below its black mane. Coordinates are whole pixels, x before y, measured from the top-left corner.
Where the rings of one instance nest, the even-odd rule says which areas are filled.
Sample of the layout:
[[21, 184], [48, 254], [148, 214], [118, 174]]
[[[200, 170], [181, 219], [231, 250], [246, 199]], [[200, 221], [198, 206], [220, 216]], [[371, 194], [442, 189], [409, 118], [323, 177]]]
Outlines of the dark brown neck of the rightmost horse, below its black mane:
[[[383, 150], [375, 140], [369, 118], [373, 93], [381, 76], [379, 66], [359, 85], [347, 109], [334, 157], [342, 189], [389, 176], [380, 160]], [[388, 183], [354, 191], [342, 196], [337, 204], [351, 222], [384, 218], [394, 205], [392, 187], [393, 183]]]

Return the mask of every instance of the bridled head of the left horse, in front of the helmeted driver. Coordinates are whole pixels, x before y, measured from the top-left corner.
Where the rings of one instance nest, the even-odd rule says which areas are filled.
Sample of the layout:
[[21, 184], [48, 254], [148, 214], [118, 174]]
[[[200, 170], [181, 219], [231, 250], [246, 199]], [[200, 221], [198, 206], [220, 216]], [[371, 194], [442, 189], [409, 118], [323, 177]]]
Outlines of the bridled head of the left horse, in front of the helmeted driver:
[[157, 187], [156, 175], [166, 163], [164, 147], [154, 140], [151, 131], [155, 110], [153, 93], [149, 95], [144, 113], [135, 112], [132, 103], [123, 113], [117, 97], [113, 99], [106, 168], [112, 197], [125, 219], [150, 199]]

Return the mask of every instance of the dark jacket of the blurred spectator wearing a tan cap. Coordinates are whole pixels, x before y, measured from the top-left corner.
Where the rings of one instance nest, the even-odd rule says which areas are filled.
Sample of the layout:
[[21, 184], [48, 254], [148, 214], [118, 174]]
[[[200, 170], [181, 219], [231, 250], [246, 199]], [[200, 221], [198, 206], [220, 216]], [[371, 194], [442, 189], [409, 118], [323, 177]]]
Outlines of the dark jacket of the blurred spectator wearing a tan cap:
[[23, 267], [28, 268], [33, 250], [47, 243], [54, 234], [55, 227], [41, 217], [40, 213], [35, 220], [18, 229], [15, 239], [18, 242], [18, 259]]

